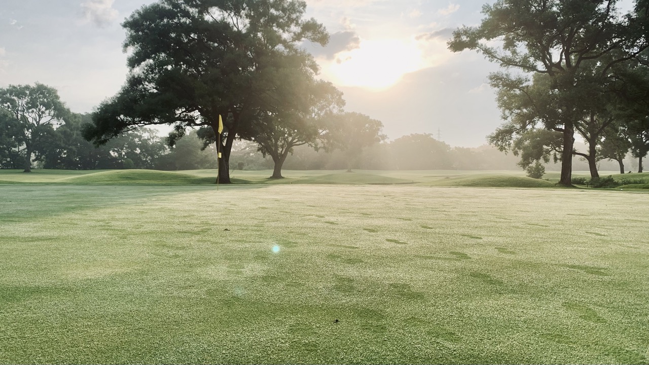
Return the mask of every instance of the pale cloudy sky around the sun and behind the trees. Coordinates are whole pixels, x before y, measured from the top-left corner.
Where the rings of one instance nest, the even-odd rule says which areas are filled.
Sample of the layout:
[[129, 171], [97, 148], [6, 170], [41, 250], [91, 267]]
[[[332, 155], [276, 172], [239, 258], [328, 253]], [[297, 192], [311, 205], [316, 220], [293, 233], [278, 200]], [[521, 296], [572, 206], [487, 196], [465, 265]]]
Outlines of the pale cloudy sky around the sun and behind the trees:
[[[74, 112], [92, 112], [119, 91], [128, 71], [120, 24], [154, 2], [0, 1], [0, 88], [42, 82]], [[319, 77], [345, 94], [345, 110], [382, 121], [389, 139], [430, 133], [478, 147], [502, 123], [486, 84], [498, 67], [446, 42], [461, 25], [478, 25], [487, 1], [306, 0], [306, 16], [331, 38], [304, 47]]]

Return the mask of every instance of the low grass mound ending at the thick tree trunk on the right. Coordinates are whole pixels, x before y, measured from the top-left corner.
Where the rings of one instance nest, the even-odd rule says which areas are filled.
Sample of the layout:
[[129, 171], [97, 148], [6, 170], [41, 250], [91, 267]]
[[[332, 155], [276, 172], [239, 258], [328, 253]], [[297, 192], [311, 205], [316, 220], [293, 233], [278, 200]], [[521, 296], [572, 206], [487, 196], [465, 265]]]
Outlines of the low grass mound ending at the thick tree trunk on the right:
[[552, 181], [512, 175], [470, 175], [435, 181], [435, 186], [474, 186], [481, 188], [552, 188]]

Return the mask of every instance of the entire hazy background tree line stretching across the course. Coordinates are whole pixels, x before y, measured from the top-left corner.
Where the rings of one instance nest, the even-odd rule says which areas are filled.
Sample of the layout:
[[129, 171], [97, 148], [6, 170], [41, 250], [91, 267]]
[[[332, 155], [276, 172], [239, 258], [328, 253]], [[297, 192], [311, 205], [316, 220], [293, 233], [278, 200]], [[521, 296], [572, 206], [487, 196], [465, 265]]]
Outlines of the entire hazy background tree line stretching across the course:
[[[0, 89], [0, 168], [31, 170], [33, 166], [64, 170], [198, 170], [217, 168], [215, 144], [205, 144], [196, 130], [163, 137], [146, 127], [123, 132], [95, 145], [82, 135], [92, 114], [68, 110], [55, 89], [43, 84]], [[49, 101], [48, 101], [49, 100]], [[10, 105], [20, 106], [19, 110]], [[30, 106], [31, 107], [28, 107]], [[56, 110], [53, 109], [56, 105]], [[17, 117], [18, 116], [18, 117]], [[47, 118], [45, 118], [47, 116]], [[382, 123], [358, 113], [326, 118], [319, 144], [295, 144], [282, 161], [289, 170], [516, 170], [519, 158], [491, 146], [450, 147], [432, 134], [410, 134], [386, 141]], [[29, 153], [27, 143], [29, 140]], [[256, 141], [234, 141], [232, 170], [276, 170], [276, 158]], [[624, 159], [625, 157], [620, 157]], [[627, 160], [629, 160], [627, 158]], [[600, 161], [604, 170], [612, 163]], [[637, 160], [630, 160], [637, 168]], [[633, 165], [635, 163], [635, 165]], [[574, 158], [576, 170], [587, 162]], [[546, 164], [548, 170], [560, 165]], [[276, 172], [276, 171], [275, 171]]]

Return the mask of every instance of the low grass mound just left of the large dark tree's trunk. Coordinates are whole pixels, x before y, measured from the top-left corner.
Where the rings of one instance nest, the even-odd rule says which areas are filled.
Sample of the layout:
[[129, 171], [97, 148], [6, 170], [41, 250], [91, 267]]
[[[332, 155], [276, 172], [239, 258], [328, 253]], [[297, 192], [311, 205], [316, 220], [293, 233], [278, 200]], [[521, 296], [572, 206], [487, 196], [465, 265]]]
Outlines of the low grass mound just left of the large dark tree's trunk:
[[101, 185], [197, 185], [212, 184], [214, 177], [196, 177], [186, 173], [157, 170], [113, 170], [68, 177], [59, 183]]

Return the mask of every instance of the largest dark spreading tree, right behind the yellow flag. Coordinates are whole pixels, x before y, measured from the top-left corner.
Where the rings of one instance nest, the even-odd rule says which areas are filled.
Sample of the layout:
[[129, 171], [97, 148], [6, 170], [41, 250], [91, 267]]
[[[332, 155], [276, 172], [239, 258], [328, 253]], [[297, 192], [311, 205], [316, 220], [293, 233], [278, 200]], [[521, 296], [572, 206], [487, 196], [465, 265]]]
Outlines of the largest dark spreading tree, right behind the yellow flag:
[[127, 82], [99, 106], [84, 136], [103, 144], [160, 124], [177, 131], [209, 127], [216, 136], [221, 115], [219, 176], [229, 183], [234, 139], [284, 82], [277, 65], [297, 58], [300, 68], [317, 71], [299, 45], [324, 45], [328, 34], [315, 19], [304, 19], [305, 11], [300, 0], [160, 0], [143, 6], [123, 23]]

